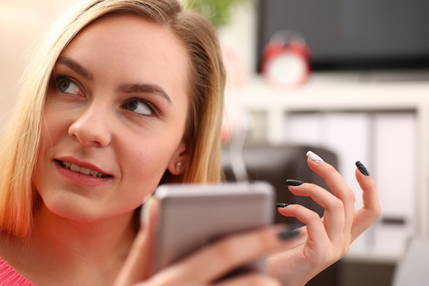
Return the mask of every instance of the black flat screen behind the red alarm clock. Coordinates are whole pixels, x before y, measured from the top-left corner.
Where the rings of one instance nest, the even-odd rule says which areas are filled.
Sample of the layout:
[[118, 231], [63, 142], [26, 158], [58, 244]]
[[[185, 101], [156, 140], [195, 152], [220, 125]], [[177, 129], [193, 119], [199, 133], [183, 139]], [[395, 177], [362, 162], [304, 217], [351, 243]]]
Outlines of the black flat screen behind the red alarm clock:
[[299, 32], [315, 71], [429, 69], [429, 0], [259, 0], [257, 54]]

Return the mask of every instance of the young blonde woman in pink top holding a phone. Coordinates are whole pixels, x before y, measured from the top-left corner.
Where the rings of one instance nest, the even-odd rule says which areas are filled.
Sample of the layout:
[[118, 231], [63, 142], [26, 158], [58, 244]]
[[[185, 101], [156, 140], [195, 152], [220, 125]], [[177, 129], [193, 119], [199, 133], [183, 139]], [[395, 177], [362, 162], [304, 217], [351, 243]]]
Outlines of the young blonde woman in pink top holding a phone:
[[[214, 29], [174, 0], [89, 1], [62, 16], [32, 56], [0, 150], [0, 285], [304, 285], [343, 257], [380, 213], [376, 186], [359, 165], [354, 213], [353, 192], [309, 152], [334, 195], [289, 189], [323, 219], [282, 207], [306, 224], [299, 237], [282, 239], [282, 226], [232, 235], [152, 272], [151, 193], [221, 181], [224, 85]], [[268, 254], [267, 274], [217, 281]]]

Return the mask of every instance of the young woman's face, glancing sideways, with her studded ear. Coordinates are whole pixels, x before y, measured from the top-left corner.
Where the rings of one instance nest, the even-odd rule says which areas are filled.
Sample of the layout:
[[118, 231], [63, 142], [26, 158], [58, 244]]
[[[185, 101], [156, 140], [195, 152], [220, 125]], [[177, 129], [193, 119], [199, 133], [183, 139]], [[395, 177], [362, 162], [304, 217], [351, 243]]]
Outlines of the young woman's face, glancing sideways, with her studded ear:
[[79, 221], [132, 212], [166, 169], [186, 160], [188, 56], [165, 27], [110, 15], [56, 63], [34, 187], [50, 211]]

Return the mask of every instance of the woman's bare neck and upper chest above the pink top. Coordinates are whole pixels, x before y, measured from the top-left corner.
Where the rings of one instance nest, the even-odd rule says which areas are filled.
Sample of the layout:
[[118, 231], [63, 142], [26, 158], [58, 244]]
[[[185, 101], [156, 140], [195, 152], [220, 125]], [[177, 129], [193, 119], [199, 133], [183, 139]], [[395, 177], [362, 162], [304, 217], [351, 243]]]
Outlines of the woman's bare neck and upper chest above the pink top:
[[[14, 261], [25, 265], [20, 272], [36, 284], [111, 284], [136, 235], [133, 217], [127, 213], [97, 222], [76, 222], [51, 213], [42, 204], [36, 210], [29, 241], [21, 240], [21, 248], [15, 248], [12, 257], [20, 259]], [[27, 247], [23, 247], [25, 243]]]

